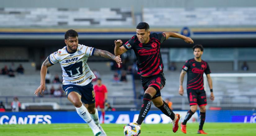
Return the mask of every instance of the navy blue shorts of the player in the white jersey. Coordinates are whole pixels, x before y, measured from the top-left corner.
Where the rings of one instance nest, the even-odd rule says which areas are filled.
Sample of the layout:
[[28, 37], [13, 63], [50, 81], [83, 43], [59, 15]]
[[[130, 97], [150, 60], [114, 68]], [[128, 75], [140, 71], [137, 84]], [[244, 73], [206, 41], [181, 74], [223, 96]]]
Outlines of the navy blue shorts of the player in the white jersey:
[[85, 86], [79, 86], [74, 84], [62, 85], [62, 88], [68, 97], [69, 93], [75, 91], [81, 95], [81, 101], [85, 104], [95, 103], [95, 96], [92, 83], [88, 83]]

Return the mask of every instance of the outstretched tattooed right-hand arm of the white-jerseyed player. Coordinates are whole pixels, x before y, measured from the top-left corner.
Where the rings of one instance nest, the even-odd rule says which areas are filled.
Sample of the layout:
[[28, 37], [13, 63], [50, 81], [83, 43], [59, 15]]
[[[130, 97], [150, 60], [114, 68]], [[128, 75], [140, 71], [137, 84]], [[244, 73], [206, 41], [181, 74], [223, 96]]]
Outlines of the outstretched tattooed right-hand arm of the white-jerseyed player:
[[119, 55], [115, 56], [115, 55], [113, 55], [112, 53], [110, 53], [110, 52], [108, 52], [106, 50], [95, 49], [93, 55], [94, 56], [101, 56], [101, 57], [112, 59], [112, 60], [114, 60], [118, 64], [119, 67], [120, 67], [120, 63], [122, 63], [122, 60], [121, 60]]

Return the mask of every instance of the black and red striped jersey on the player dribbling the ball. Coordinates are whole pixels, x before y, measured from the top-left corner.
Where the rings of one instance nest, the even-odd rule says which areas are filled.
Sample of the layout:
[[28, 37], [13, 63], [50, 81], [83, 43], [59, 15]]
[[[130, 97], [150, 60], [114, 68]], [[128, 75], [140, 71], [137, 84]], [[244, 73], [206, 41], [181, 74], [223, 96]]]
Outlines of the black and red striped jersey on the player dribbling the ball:
[[164, 65], [160, 53], [160, 45], [164, 40], [166, 40], [164, 33], [151, 33], [149, 42], [142, 44], [138, 37], [134, 35], [123, 45], [127, 50], [134, 50], [137, 57], [138, 74], [151, 76], [163, 72]]

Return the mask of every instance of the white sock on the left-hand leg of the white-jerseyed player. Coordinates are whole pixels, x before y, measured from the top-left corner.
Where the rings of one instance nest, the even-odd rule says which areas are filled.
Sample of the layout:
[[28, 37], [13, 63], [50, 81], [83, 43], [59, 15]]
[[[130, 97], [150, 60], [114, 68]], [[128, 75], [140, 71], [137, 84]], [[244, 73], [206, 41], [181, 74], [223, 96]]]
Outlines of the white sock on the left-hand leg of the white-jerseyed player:
[[87, 108], [85, 108], [83, 105], [80, 108], [76, 107], [76, 112], [78, 113], [78, 115], [80, 117], [83, 118], [83, 120], [85, 122], [88, 123], [88, 125], [93, 129], [96, 125], [94, 124], [94, 122], [92, 121], [92, 118], [89, 116], [89, 112], [87, 110]]

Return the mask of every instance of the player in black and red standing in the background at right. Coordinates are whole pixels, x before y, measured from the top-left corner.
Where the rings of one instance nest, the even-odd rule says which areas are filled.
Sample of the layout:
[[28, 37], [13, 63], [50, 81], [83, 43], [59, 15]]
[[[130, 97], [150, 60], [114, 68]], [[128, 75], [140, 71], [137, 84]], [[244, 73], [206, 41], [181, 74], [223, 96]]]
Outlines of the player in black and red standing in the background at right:
[[207, 105], [206, 94], [204, 91], [204, 77], [206, 74], [207, 81], [210, 87], [211, 95], [210, 99], [214, 100], [213, 95], [213, 83], [210, 77], [211, 70], [207, 62], [201, 59], [203, 55], [204, 48], [202, 45], [195, 45], [193, 47], [195, 57], [186, 61], [182, 68], [180, 74], [180, 87], [179, 94], [184, 94], [184, 89], [182, 83], [184, 76], [187, 73], [187, 97], [190, 104], [190, 110], [187, 112], [184, 121], [181, 123], [181, 131], [186, 134], [186, 123], [191, 118], [191, 116], [197, 110], [197, 105], [200, 108], [199, 116], [199, 130], [198, 134], [207, 134], [203, 130], [204, 120], [205, 120], [205, 105]]

